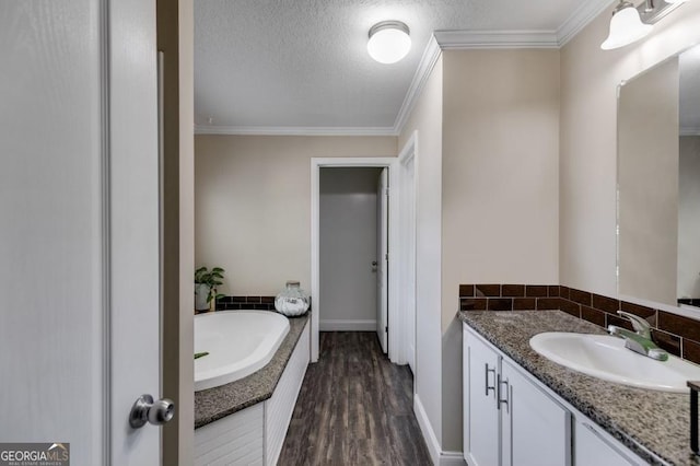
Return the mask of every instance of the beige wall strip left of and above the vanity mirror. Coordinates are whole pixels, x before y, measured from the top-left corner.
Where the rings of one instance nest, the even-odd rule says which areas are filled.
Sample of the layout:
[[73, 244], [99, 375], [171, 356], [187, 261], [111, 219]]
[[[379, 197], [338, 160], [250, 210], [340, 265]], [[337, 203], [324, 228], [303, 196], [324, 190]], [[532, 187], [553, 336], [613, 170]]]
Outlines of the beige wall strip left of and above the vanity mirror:
[[700, 40], [689, 2], [641, 43], [600, 50], [612, 7], [561, 49], [560, 282], [615, 296], [617, 86]]

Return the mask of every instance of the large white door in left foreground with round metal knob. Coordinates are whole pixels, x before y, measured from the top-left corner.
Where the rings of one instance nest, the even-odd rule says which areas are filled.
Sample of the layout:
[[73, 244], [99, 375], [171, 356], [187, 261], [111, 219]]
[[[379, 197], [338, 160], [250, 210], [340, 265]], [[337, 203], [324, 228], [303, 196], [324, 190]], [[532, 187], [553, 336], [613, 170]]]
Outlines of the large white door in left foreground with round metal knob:
[[0, 0], [0, 442], [159, 464], [155, 2]]

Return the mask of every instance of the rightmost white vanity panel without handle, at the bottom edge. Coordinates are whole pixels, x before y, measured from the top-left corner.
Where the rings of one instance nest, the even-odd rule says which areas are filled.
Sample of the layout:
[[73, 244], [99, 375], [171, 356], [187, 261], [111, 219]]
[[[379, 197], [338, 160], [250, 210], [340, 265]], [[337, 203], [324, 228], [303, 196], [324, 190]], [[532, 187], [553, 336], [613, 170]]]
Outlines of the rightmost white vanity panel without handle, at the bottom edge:
[[[575, 424], [574, 462], [576, 466], [630, 466], [642, 465], [644, 462], [628, 458], [622, 452], [622, 445], [614, 445], [604, 439], [596, 428], [584, 422]], [[630, 453], [630, 456], [632, 454]]]

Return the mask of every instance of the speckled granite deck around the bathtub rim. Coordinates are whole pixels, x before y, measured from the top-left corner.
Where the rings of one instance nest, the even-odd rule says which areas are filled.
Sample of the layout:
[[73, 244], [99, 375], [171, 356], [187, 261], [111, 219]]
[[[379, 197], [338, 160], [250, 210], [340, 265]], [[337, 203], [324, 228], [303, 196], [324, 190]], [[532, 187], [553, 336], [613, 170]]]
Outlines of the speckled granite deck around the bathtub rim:
[[289, 334], [265, 368], [230, 384], [195, 392], [195, 429], [270, 398], [310, 316], [289, 319]]

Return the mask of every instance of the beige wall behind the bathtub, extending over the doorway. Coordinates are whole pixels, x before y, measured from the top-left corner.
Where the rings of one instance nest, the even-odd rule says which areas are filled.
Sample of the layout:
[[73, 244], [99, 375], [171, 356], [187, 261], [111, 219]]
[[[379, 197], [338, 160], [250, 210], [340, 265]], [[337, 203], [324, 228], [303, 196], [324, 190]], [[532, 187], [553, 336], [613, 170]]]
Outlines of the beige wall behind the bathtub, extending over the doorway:
[[311, 159], [396, 154], [395, 137], [196, 136], [195, 264], [229, 294], [311, 291]]

